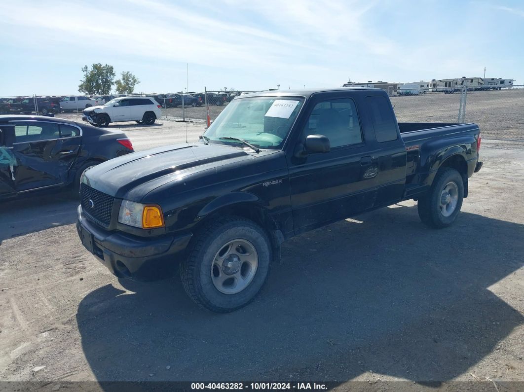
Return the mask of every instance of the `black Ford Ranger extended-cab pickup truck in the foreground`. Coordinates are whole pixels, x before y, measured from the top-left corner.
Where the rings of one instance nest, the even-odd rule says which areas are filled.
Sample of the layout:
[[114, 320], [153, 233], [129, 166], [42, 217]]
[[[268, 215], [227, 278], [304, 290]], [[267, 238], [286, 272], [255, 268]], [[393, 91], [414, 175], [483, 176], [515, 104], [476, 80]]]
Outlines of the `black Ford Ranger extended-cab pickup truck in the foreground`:
[[242, 95], [200, 142], [86, 172], [77, 229], [114, 275], [166, 277], [180, 262], [197, 304], [232, 311], [304, 231], [407, 199], [427, 225], [451, 225], [480, 144], [475, 124], [397, 124], [381, 89]]

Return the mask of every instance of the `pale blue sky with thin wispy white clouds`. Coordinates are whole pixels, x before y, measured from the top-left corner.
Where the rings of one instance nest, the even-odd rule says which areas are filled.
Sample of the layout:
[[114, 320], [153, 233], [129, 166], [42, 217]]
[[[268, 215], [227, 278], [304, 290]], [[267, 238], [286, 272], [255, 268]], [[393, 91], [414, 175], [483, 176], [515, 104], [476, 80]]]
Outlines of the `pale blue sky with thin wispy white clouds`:
[[93, 63], [132, 72], [143, 93], [482, 77], [484, 67], [524, 84], [521, 1], [10, 1], [0, 27], [0, 96], [75, 94]]

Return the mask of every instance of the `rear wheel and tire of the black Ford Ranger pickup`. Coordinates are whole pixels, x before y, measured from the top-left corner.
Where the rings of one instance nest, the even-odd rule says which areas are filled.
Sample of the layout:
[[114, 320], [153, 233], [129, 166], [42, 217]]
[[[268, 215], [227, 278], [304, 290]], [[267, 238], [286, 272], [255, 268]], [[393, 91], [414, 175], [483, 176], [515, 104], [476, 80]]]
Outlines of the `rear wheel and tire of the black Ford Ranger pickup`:
[[451, 167], [440, 169], [428, 194], [420, 197], [417, 209], [426, 225], [442, 229], [450, 226], [459, 215], [464, 199], [464, 182]]

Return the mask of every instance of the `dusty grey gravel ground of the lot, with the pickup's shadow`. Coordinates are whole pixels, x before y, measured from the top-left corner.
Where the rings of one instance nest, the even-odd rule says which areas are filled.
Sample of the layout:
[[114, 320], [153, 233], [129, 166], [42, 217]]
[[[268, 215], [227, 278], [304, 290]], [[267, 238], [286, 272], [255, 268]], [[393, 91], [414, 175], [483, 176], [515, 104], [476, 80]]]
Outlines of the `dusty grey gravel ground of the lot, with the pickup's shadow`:
[[[186, 127], [189, 141], [203, 132], [174, 121], [112, 128], [144, 150], [185, 141]], [[522, 137], [521, 126], [515, 132]], [[507, 382], [524, 382], [523, 146], [483, 141], [484, 167], [451, 228], [426, 228], [405, 201], [305, 233], [283, 245], [283, 263], [254, 303], [227, 315], [196, 307], [178, 278], [119, 282], [82, 247], [77, 201], [3, 202], [0, 379], [361, 380], [377, 388], [478, 379], [495, 390], [487, 377], [500, 391], [517, 390], [523, 384]]]

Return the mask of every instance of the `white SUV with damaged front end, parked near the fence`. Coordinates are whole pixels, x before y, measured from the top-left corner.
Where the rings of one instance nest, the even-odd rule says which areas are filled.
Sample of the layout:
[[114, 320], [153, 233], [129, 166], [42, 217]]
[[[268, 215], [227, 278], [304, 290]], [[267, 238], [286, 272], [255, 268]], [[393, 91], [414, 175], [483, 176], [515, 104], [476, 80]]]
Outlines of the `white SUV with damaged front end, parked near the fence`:
[[161, 116], [161, 106], [148, 97], [118, 97], [103, 106], [93, 106], [83, 111], [82, 120], [98, 127], [106, 127], [110, 122], [136, 121], [151, 125]]

